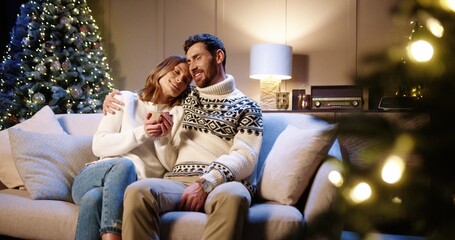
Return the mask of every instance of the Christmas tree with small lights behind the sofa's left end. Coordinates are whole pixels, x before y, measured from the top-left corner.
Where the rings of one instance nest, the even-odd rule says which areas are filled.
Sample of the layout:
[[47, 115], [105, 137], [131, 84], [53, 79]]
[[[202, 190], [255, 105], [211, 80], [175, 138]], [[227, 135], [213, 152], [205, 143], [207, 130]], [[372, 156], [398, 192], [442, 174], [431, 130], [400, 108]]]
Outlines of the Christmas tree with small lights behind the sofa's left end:
[[94, 113], [112, 90], [102, 39], [85, 0], [35, 0], [21, 6], [0, 64], [0, 130], [43, 106]]

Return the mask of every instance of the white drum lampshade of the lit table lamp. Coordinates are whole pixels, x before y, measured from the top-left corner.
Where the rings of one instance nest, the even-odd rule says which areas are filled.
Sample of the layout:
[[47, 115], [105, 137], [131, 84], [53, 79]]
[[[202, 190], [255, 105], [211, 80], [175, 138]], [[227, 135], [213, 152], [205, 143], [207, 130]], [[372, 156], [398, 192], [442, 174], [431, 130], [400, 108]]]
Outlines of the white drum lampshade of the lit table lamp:
[[291, 79], [292, 47], [284, 44], [256, 44], [250, 52], [250, 78]]

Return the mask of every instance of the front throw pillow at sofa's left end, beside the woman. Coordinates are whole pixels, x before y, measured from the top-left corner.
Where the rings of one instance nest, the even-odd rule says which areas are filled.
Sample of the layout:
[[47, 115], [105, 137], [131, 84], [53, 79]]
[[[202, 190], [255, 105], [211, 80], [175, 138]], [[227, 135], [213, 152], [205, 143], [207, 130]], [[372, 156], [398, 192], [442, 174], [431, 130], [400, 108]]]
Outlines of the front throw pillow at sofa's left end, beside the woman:
[[72, 202], [71, 187], [87, 162], [97, 159], [92, 136], [8, 130], [17, 170], [33, 199]]

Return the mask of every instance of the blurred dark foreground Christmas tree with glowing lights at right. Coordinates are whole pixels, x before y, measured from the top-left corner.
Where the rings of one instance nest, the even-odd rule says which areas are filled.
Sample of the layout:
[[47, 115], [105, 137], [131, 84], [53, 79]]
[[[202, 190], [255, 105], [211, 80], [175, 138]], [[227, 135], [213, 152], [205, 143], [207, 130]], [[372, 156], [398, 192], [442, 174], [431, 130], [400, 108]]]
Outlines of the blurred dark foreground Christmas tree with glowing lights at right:
[[359, 74], [356, 84], [398, 86], [399, 96], [420, 101], [403, 114], [430, 120], [411, 129], [365, 118], [342, 122], [341, 134], [380, 144], [362, 156], [371, 165], [346, 165], [340, 173], [339, 205], [331, 216], [363, 238], [385, 232], [450, 239], [455, 235], [455, 128], [448, 117], [455, 110], [455, 1], [397, 1], [392, 15], [411, 23], [409, 38], [382, 55], [366, 56], [361, 64], [373, 70]]

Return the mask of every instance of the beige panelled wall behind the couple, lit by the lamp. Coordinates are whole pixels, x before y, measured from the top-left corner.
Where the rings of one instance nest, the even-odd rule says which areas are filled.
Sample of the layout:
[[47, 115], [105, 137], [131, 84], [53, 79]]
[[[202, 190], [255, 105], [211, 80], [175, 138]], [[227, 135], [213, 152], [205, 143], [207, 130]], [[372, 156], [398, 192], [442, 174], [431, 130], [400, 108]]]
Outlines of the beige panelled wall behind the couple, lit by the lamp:
[[216, 34], [227, 49], [227, 72], [259, 100], [249, 78], [256, 43], [293, 47], [285, 90], [353, 84], [360, 56], [390, 42], [396, 0], [88, 0], [103, 32], [116, 88], [136, 90], [165, 56], [183, 54], [192, 34]]

